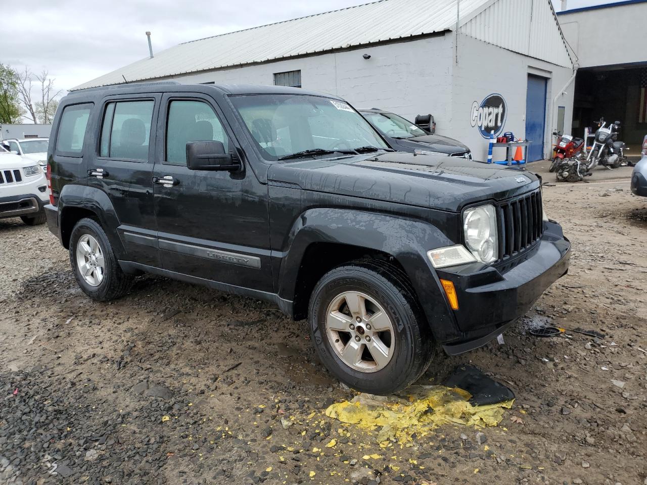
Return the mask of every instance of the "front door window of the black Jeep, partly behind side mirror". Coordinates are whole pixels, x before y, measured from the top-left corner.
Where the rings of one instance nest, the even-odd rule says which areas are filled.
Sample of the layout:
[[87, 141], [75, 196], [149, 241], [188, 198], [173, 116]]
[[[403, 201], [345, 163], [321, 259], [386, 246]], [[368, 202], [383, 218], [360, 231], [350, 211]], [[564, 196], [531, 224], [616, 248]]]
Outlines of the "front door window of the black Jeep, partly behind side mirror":
[[228, 151], [225, 129], [214, 109], [202, 101], [171, 101], [166, 125], [166, 162], [186, 165], [188, 142], [222, 142]]

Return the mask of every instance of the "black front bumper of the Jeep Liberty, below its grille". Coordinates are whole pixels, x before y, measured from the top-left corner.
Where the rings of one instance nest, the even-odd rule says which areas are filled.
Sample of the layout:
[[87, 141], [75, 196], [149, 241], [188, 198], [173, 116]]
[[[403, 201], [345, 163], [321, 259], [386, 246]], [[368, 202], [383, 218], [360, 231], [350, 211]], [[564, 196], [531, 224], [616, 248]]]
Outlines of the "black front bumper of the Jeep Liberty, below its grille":
[[437, 270], [454, 283], [459, 309], [454, 317], [461, 336], [442, 342], [450, 355], [477, 349], [523, 316], [554, 281], [568, 271], [571, 243], [562, 228], [546, 222], [542, 239], [509, 270], [487, 266], [471, 272]]

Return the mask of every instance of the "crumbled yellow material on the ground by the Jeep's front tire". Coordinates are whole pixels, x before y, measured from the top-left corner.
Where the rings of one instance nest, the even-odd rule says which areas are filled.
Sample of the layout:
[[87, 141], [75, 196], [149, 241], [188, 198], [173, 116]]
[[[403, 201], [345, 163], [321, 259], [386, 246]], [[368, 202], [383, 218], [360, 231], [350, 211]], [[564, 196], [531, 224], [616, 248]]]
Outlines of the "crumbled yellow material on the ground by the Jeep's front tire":
[[400, 396], [358, 394], [350, 402], [330, 405], [325, 414], [364, 429], [380, 429], [377, 442], [395, 439], [402, 443], [411, 440], [413, 433], [443, 424], [496, 426], [503, 418], [503, 408], [509, 409], [514, 402], [473, 406], [468, 403], [471, 397], [458, 387], [412, 386]]

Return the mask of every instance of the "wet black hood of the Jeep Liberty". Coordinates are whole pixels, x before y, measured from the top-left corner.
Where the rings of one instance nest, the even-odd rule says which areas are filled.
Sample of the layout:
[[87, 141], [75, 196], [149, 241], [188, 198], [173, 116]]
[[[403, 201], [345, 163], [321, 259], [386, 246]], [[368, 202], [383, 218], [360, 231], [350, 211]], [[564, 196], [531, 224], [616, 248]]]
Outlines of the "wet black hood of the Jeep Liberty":
[[527, 171], [403, 152], [272, 164], [268, 178], [305, 190], [446, 211], [481, 200], [508, 199], [540, 185]]

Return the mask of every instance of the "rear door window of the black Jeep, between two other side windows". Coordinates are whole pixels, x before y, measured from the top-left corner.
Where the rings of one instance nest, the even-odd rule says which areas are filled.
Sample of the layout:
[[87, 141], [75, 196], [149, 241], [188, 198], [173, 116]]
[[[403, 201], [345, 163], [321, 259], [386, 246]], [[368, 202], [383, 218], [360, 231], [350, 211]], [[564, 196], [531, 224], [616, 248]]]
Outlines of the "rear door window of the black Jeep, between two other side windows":
[[105, 107], [100, 156], [148, 161], [154, 101], [120, 101]]

